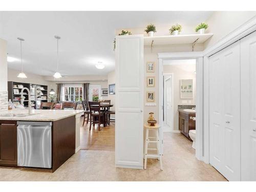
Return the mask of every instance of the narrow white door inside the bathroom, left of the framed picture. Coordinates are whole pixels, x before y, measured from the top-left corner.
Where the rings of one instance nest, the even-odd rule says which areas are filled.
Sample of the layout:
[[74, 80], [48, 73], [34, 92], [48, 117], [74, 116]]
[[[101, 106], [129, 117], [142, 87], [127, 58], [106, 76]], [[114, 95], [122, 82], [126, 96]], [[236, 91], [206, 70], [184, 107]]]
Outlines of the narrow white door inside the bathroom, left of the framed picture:
[[173, 74], [164, 73], [164, 114], [163, 114], [163, 132], [171, 132], [174, 128], [173, 121]]

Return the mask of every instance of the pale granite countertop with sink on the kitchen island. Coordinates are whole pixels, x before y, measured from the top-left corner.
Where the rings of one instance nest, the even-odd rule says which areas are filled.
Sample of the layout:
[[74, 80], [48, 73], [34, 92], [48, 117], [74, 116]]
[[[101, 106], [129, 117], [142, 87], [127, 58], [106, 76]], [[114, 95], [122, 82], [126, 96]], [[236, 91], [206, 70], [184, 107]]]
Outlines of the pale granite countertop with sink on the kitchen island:
[[[32, 110], [32, 115], [28, 115], [28, 113], [28, 109], [13, 109], [9, 111], [0, 111], [0, 120], [56, 121], [77, 114], [82, 115], [83, 110]], [[10, 116], [2, 116], [9, 114]], [[12, 114], [14, 114], [14, 116], [12, 116]]]

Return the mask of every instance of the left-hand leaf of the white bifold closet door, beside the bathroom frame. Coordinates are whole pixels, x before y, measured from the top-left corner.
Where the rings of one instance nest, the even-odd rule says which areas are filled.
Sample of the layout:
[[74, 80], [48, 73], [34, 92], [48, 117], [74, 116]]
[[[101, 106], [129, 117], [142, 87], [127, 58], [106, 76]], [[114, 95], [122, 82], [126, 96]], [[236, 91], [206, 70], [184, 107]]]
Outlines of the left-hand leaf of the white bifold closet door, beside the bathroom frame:
[[209, 58], [209, 117], [210, 117], [210, 164], [222, 172], [223, 161], [223, 105], [224, 92], [222, 54]]

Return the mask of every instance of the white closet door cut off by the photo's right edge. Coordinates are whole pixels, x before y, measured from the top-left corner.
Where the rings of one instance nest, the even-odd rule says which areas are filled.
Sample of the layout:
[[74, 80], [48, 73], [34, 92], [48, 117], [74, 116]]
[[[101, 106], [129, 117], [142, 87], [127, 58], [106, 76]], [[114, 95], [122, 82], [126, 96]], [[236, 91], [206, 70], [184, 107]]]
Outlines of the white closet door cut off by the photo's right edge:
[[256, 181], [256, 32], [241, 39], [241, 180]]

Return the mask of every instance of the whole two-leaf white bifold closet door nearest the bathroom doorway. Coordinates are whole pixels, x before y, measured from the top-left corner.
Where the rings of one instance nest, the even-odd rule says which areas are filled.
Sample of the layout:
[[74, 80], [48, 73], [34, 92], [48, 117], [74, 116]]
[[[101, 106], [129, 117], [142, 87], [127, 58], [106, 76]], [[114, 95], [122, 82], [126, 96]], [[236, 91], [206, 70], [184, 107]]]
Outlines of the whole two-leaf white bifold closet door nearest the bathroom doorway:
[[210, 164], [241, 180], [240, 41], [209, 57]]

